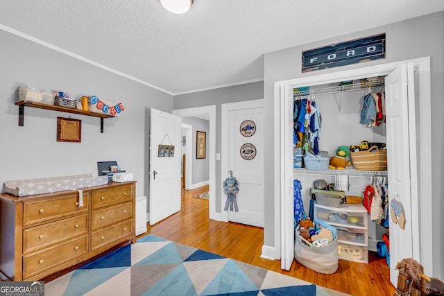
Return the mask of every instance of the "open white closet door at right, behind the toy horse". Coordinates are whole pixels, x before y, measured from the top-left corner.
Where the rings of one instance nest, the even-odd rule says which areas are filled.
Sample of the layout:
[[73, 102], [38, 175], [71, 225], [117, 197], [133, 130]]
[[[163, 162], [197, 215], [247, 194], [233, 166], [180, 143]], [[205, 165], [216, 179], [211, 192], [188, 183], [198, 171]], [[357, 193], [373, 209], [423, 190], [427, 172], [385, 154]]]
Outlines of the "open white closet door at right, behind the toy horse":
[[[405, 226], [390, 219], [390, 281], [396, 286], [396, 263], [402, 259], [419, 260], [418, 225], [412, 220], [418, 216], [416, 130], [415, 116], [409, 105], [414, 104], [413, 64], [403, 64], [388, 74], [386, 80], [386, 130], [388, 202], [393, 199], [402, 203]], [[410, 125], [410, 126], [409, 126]], [[412, 207], [416, 209], [412, 211]], [[413, 234], [415, 233], [415, 234]], [[415, 250], [416, 249], [416, 250]]]

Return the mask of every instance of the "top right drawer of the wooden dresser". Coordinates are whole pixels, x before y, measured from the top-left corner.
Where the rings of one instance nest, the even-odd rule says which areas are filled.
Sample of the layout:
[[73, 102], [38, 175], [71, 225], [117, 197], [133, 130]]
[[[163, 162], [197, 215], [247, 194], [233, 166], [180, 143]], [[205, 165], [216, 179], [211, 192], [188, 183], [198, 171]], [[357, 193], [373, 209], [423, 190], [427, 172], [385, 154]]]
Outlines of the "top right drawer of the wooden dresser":
[[128, 185], [92, 191], [92, 209], [131, 200], [133, 198], [131, 189], [132, 186]]

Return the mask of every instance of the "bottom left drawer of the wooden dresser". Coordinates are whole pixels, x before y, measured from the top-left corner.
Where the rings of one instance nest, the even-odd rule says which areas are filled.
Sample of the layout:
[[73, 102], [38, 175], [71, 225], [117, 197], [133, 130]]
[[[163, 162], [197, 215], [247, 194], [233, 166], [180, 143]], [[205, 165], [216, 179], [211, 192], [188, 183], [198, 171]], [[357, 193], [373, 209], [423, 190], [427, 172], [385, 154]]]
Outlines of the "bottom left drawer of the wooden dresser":
[[[83, 236], [62, 243], [49, 250], [23, 256], [23, 278], [32, 277], [44, 270], [56, 268], [64, 263], [88, 252], [88, 238]], [[54, 270], [56, 271], [56, 270]]]

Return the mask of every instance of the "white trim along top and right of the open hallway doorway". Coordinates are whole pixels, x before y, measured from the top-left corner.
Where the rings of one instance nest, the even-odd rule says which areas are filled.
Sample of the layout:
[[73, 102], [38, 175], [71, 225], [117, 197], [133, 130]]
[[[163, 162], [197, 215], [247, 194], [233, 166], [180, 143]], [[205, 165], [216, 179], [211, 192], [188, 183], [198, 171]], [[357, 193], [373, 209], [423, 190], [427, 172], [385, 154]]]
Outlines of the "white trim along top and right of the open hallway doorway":
[[[210, 121], [210, 132], [207, 134], [208, 155], [210, 157], [210, 219], [221, 220], [221, 214], [216, 213], [216, 105], [194, 107], [187, 109], [173, 110], [173, 114], [180, 117], [205, 116]], [[192, 145], [192, 143], [190, 142]], [[191, 155], [190, 155], [191, 157]], [[220, 200], [220, 193], [219, 193]]]

